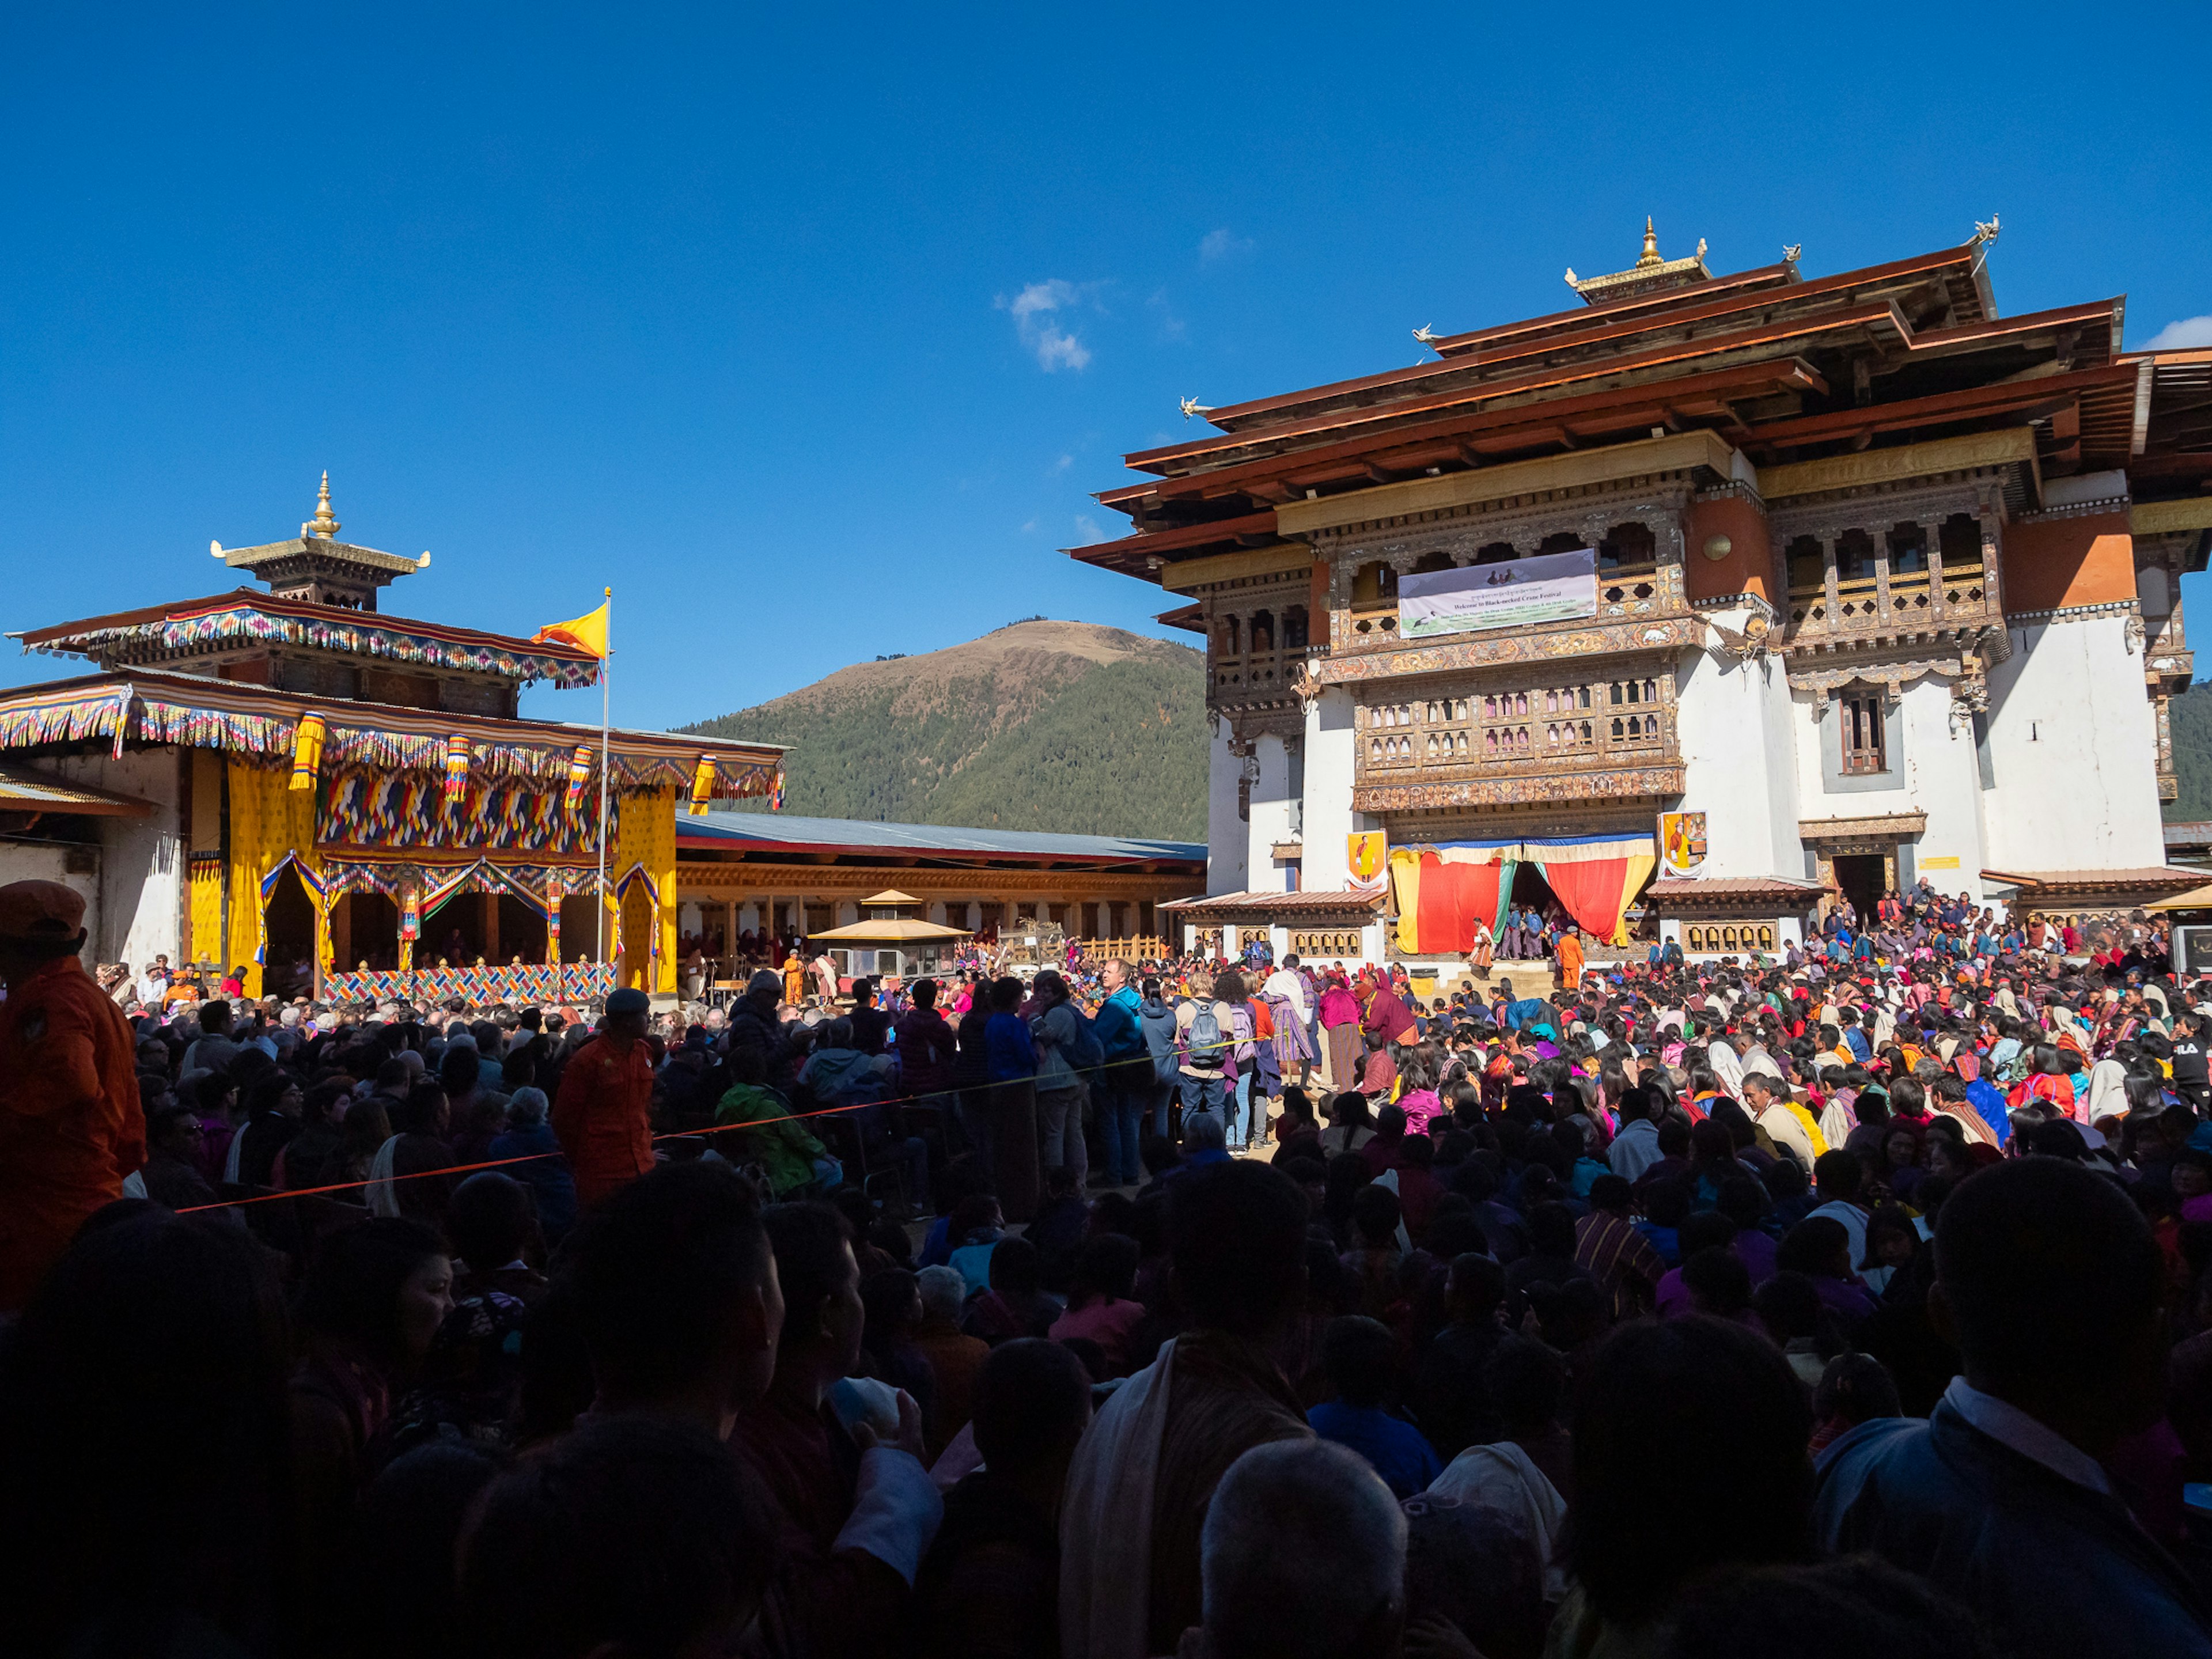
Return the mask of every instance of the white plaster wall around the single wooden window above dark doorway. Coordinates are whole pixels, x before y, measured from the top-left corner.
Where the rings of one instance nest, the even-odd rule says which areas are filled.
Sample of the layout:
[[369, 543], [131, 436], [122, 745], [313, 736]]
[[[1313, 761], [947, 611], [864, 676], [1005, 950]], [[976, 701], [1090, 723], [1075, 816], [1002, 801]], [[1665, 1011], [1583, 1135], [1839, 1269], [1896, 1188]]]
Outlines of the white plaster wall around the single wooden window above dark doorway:
[[[1924, 812], [1927, 830], [1911, 843], [1913, 876], [1924, 874], [1947, 894], [1982, 896], [1982, 867], [1993, 863], [1982, 843], [1982, 776], [1973, 728], [1966, 721], [1951, 723], [1951, 681], [1929, 675], [1905, 686], [1889, 772], [1849, 779], [1851, 787], [1832, 776], [1843, 754], [1843, 703], [1798, 697], [1794, 714], [1803, 816]], [[1929, 869], [1929, 858], [1958, 858], [1958, 867]], [[1803, 878], [1803, 858], [1785, 874]]]

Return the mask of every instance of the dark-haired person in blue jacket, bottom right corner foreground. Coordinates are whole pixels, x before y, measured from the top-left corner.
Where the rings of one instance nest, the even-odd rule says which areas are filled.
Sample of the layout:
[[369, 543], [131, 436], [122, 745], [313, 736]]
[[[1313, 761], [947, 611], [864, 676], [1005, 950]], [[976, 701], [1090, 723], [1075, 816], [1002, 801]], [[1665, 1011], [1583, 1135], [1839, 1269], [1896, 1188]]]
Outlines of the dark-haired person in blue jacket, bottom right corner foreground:
[[2163, 1256], [2128, 1194], [2055, 1157], [1960, 1181], [1929, 1316], [1962, 1376], [1927, 1422], [1820, 1455], [1816, 1533], [1971, 1606], [2020, 1659], [2212, 1659], [2212, 1608], [2108, 1473], [2166, 1405]]

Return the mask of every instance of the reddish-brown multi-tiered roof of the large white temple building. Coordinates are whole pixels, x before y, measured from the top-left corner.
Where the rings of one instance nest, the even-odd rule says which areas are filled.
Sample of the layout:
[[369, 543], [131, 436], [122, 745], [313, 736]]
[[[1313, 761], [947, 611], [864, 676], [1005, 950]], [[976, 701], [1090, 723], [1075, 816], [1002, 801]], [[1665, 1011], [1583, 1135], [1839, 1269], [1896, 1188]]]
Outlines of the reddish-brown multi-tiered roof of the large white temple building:
[[[1126, 456], [1099, 493], [1130, 533], [1068, 549], [1161, 580], [1283, 546], [1287, 502], [1500, 462], [1710, 431], [1767, 469], [1929, 436], [2033, 427], [2020, 491], [2124, 469], [2137, 504], [2212, 491], [2212, 352], [2121, 352], [2124, 299], [2000, 319], [1995, 223], [1944, 248], [1807, 279], [1798, 250], [1734, 274], [1663, 259], [1568, 283], [1582, 305], [1416, 336], [1433, 363], [1203, 409], [1219, 436]], [[1199, 414], [1197, 405], [1186, 411]]]

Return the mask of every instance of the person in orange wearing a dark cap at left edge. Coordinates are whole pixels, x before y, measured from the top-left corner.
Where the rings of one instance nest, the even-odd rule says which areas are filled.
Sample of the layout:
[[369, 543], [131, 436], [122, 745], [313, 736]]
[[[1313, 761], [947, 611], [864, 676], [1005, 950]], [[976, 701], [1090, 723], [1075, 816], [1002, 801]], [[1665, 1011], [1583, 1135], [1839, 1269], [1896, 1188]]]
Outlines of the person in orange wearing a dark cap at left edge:
[[0, 1312], [146, 1161], [137, 1046], [77, 951], [84, 896], [58, 880], [0, 887]]

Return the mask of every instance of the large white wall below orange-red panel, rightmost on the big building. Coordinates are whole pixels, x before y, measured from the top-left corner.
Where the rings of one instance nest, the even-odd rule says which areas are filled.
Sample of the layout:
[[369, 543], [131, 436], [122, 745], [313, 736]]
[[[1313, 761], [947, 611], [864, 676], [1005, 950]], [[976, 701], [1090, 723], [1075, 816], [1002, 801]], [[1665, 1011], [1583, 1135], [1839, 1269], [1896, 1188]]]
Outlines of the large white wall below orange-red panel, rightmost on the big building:
[[2013, 628], [1989, 677], [1993, 869], [2150, 869], [2159, 825], [2157, 712], [2124, 615]]

